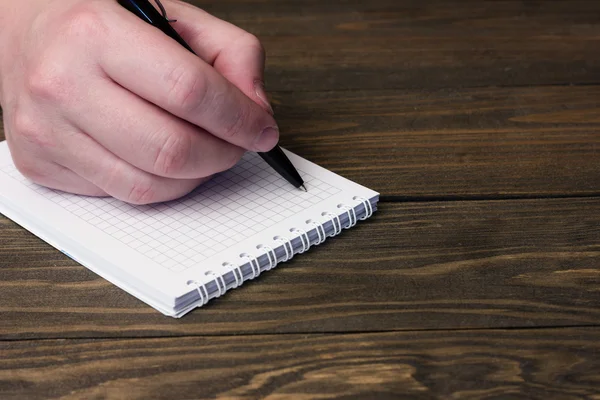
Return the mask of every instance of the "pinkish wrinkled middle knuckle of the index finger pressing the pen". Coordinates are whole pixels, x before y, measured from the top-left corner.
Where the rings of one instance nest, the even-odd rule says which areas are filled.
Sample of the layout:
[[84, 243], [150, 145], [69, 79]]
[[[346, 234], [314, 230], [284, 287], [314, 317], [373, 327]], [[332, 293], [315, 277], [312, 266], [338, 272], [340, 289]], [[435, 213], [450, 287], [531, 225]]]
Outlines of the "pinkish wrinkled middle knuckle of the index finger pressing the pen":
[[206, 78], [194, 68], [178, 67], [167, 75], [169, 103], [189, 113], [197, 110], [206, 98]]

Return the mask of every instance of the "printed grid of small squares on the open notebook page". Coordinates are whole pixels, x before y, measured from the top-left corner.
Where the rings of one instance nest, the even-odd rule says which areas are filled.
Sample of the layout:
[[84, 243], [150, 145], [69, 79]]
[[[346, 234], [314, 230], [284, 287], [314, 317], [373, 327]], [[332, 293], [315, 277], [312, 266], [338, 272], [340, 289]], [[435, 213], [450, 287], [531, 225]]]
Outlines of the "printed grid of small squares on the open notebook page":
[[309, 191], [290, 190], [255, 153], [246, 153], [235, 167], [189, 195], [149, 206], [47, 189], [12, 165], [0, 171], [173, 272], [196, 266], [341, 191], [303, 171]]

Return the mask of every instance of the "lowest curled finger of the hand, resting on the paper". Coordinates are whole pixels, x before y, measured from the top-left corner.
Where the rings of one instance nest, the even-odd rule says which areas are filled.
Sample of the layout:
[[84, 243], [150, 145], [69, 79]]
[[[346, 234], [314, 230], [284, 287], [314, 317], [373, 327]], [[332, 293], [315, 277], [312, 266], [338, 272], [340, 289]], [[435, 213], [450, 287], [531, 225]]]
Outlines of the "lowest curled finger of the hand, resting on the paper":
[[170, 179], [142, 171], [116, 157], [83, 132], [69, 134], [55, 158], [105, 193], [132, 204], [173, 200], [208, 178]]

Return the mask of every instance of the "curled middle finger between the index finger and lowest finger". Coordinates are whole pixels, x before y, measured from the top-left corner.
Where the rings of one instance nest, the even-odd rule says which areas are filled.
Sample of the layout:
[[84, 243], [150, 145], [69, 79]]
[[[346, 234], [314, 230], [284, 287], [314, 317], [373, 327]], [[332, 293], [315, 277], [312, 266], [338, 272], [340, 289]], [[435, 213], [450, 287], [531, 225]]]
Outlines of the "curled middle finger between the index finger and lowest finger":
[[[98, 78], [87, 102], [67, 110], [69, 120], [100, 145], [154, 175], [202, 178], [227, 170], [244, 150]], [[89, 108], [95, 110], [88, 112]]]

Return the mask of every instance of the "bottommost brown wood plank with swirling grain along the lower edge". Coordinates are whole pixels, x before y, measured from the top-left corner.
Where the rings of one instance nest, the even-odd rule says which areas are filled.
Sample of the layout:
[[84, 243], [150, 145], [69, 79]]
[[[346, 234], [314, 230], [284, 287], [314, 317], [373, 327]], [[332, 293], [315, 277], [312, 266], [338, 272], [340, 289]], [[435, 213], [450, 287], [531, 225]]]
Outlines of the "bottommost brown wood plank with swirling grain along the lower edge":
[[594, 399], [599, 328], [0, 342], [3, 399]]

